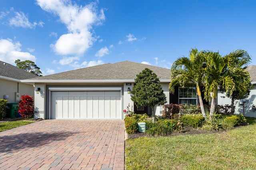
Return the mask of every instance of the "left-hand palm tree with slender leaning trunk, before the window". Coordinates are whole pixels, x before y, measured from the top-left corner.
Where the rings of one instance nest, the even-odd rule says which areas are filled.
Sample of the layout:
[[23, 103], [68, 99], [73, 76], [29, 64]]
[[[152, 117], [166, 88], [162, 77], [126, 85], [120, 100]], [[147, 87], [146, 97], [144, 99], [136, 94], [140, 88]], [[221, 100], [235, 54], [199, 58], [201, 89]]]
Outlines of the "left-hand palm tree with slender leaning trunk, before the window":
[[191, 83], [195, 84], [202, 115], [206, 117], [200, 91], [204, 63], [205, 58], [202, 56], [201, 53], [198, 53], [197, 49], [191, 49], [189, 57], [178, 58], [172, 64], [170, 76], [171, 82], [169, 84], [169, 89], [171, 93], [174, 93], [174, 87], [177, 84], [180, 84], [180, 86], [183, 88], [187, 87]]

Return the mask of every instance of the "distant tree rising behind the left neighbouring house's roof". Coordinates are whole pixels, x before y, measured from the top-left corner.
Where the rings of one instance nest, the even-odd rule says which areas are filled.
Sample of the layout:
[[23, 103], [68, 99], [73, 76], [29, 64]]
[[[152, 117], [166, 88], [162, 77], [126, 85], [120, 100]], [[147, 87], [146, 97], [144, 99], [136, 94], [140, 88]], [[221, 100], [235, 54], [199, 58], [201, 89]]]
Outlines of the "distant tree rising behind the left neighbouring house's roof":
[[33, 61], [30, 61], [30, 60], [20, 61], [20, 59], [18, 59], [18, 60], [15, 60], [14, 63], [18, 68], [21, 68], [27, 72], [35, 74], [36, 76], [42, 76], [42, 72], [40, 71], [40, 68]]

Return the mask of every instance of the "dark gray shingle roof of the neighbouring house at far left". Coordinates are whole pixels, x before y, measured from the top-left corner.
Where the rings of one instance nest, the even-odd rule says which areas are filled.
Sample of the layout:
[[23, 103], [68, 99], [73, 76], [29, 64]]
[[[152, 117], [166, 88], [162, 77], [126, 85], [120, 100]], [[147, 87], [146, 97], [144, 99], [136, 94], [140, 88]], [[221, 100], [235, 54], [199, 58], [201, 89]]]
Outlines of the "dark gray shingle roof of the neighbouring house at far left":
[[36, 75], [26, 72], [12, 64], [4, 63], [5, 62], [0, 61], [0, 76], [15, 78], [18, 80], [37, 77]]

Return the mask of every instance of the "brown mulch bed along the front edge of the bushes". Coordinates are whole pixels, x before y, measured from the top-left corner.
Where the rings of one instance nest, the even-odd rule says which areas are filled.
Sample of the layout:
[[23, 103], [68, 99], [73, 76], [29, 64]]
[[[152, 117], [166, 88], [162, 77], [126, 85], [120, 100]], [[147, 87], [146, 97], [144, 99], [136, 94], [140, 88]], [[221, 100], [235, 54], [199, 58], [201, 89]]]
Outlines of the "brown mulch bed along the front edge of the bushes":
[[[206, 131], [201, 129], [196, 129], [190, 126], [185, 126], [181, 133], [172, 133], [168, 136], [176, 136], [176, 135], [198, 135], [198, 134], [207, 134], [207, 133], [223, 133], [224, 131]], [[137, 139], [139, 137], [152, 137], [147, 135], [146, 133], [136, 132], [134, 134], [128, 135], [128, 139]]]

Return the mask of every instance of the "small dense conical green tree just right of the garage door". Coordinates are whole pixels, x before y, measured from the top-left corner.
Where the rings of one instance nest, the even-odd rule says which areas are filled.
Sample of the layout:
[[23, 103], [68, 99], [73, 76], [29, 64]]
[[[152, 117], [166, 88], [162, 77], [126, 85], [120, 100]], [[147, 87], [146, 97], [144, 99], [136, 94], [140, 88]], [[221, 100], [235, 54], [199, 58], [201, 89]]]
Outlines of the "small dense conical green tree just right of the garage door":
[[162, 106], [167, 102], [159, 78], [148, 68], [137, 74], [131, 94], [136, 106], [150, 107], [152, 122], [155, 121], [154, 106]]

